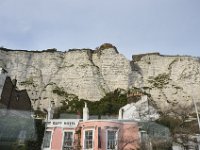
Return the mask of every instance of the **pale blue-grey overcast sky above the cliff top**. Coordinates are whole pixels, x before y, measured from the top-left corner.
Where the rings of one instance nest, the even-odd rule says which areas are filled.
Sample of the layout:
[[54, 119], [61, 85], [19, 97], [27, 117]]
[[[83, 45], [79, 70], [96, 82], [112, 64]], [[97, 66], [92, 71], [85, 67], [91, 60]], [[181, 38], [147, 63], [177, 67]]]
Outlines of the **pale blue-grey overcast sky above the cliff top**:
[[200, 0], [0, 0], [0, 46], [200, 56]]

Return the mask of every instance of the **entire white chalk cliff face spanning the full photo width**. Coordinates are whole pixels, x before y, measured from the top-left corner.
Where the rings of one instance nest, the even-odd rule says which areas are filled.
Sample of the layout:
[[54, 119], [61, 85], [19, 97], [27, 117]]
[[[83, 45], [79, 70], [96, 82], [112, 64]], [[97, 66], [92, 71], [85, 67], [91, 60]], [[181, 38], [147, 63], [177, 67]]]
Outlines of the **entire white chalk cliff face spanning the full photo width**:
[[[64, 97], [52, 91], [62, 88], [79, 98], [99, 100], [117, 88], [143, 88], [158, 108], [190, 105], [200, 97], [199, 58], [145, 54], [127, 60], [116, 49], [99, 51], [27, 52], [0, 50], [0, 67], [17, 87], [26, 89], [34, 108], [60, 105]], [[3, 83], [1, 81], [1, 83]], [[0, 86], [1, 88], [2, 86]]]

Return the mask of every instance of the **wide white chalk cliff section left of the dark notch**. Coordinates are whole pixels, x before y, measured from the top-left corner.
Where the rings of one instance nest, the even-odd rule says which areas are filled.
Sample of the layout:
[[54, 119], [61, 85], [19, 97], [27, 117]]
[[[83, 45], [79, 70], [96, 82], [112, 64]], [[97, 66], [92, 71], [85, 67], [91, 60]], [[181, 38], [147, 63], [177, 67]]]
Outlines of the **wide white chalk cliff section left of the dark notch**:
[[[128, 88], [129, 61], [115, 49], [69, 52], [0, 51], [1, 67], [17, 79], [19, 89], [27, 89], [34, 107], [56, 105], [64, 99], [52, 93], [63, 88], [79, 98], [99, 100], [106, 92]], [[3, 74], [2, 74], [3, 76]]]

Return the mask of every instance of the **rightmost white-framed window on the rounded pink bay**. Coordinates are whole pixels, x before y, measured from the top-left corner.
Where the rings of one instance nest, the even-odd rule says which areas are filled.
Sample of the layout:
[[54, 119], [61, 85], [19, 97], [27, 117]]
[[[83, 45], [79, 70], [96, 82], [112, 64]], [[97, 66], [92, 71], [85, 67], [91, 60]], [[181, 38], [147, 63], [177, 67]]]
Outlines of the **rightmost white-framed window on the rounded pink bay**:
[[117, 131], [107, 130], [107, 150], [117, 149]]

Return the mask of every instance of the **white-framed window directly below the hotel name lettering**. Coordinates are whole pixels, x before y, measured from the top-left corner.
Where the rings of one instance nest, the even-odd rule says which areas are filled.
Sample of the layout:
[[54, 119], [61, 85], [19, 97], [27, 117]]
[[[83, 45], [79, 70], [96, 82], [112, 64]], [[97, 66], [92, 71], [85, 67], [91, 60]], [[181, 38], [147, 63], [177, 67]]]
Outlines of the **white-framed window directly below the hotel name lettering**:
[[63, 150], [73, 149], [73, 132], [64, 132]]

